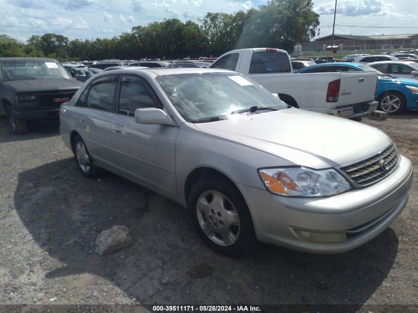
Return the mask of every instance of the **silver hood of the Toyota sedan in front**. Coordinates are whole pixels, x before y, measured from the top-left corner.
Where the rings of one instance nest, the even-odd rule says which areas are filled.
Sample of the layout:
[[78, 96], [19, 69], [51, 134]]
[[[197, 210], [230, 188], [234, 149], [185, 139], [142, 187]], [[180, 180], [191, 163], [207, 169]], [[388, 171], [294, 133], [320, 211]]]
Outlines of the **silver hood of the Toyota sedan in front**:
[[296, 165], [317, 169], [371, 156], [392, 142], [389, 136], [368, 125], [295, 108], [232, 117], [194, 125]]

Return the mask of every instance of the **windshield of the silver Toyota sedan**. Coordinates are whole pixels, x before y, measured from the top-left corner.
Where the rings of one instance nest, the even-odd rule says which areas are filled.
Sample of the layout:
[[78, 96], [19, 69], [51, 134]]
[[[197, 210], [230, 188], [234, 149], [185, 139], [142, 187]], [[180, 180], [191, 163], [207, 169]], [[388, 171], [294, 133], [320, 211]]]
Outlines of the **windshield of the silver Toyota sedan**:
[[[286, 104], [247, 78], [234, 73], [159, 76], [158, 84], [187, 122], [230, 118], [232, 113], [268, 112]], [[268, 111], [266, 111], [268, 110]]]

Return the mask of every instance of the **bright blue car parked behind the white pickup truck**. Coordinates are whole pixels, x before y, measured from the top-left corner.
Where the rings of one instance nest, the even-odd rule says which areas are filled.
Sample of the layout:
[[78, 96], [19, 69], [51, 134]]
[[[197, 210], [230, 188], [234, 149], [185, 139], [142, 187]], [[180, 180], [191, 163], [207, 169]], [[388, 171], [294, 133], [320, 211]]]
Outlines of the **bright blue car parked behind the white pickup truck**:
[[398, 114], [403, 110], [418, 109], [418, 80], [396, 78], [359, 63], [334, 62], [315, 64], [293, 73], [329, 73], [375, 71], [378, 74], [374, 99], [379, 101], [379, 110], [388, 114]]

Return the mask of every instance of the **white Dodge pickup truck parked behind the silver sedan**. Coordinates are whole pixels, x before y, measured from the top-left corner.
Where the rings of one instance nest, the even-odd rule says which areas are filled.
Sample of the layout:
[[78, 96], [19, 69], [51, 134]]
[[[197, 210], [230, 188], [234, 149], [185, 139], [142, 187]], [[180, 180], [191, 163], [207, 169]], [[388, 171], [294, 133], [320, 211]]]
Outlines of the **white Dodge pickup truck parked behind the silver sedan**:
[[278, 93], [287, 104], [305, 110], [359, 118], [377, 108], [376, 72], [292, 74], [289, 54], [275, 48], [247, 48], [221, 55], [211, 68], [248, 76]]

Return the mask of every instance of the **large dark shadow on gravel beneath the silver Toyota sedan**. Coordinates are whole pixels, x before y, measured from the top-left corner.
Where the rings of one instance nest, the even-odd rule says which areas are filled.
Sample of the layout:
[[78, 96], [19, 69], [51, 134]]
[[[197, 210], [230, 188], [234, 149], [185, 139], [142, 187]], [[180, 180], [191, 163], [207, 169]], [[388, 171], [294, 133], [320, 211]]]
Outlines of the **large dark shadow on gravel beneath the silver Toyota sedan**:
[[[72, 158], [19, 173], [14, 206], [36, 244], [59, 261], [46, 280], [65, 284], [88, 272], [141, 304], [351, 304], [344, 312], [356, 312], [398, 248], [388, 228], [338, 255], [261, 244], [249, 256], [225, 257], [204, 245], [181, 206], [110, 173], [84, 178]], [[118, 224], [130, 228], [133, 245], [99, 257], [96, 236]]]

